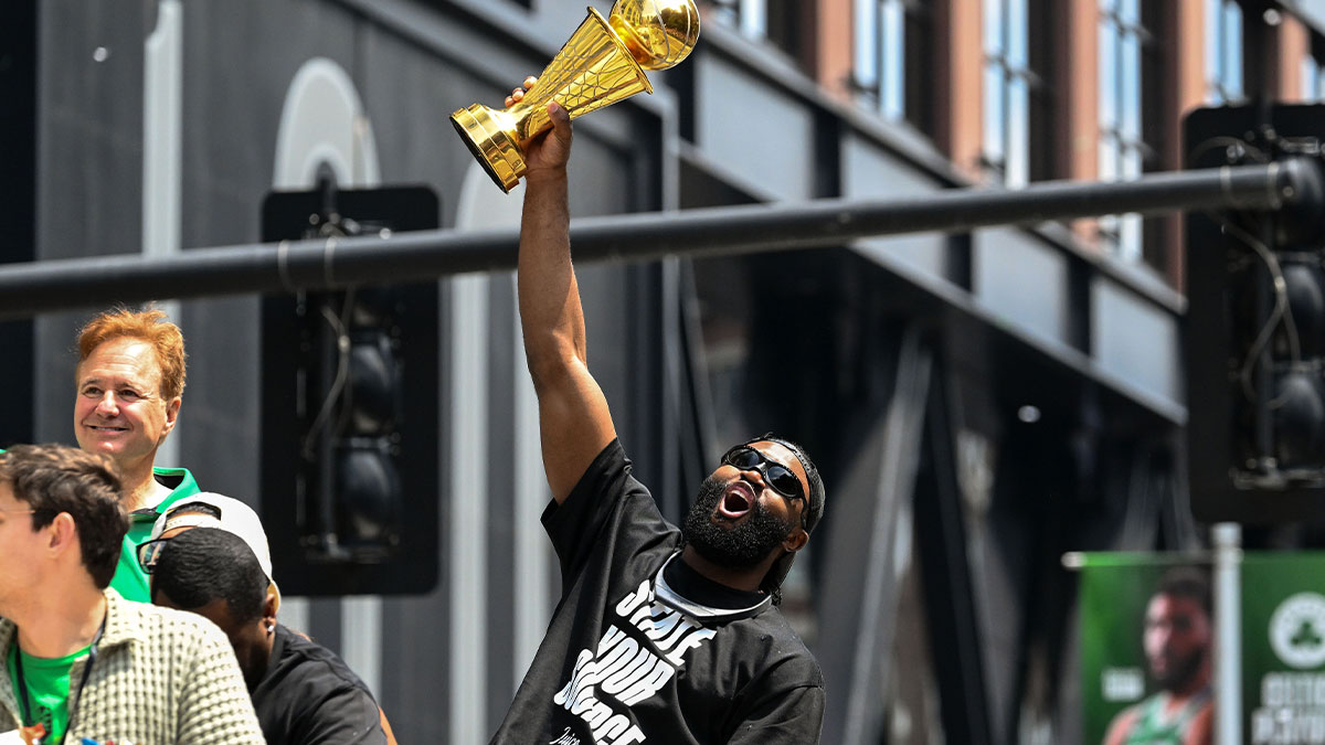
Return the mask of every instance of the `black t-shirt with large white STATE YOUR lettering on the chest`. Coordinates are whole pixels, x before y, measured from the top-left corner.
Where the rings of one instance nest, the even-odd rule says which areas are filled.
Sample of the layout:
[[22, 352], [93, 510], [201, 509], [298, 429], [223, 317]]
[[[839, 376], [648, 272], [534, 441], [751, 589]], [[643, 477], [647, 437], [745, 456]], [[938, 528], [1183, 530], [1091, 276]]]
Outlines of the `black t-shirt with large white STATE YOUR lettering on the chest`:
[[[562, 599], [492, 742], [819, 741], [824, 691], [814, 656], [767, 597], [733, 608], [742, 594], [693, 593], [693, 577], [664, 571], [681, 533], [631, 476], [620, 443], [547, 508], [543, 525]], [[698, 597], [681, 597], [669, 578]]]

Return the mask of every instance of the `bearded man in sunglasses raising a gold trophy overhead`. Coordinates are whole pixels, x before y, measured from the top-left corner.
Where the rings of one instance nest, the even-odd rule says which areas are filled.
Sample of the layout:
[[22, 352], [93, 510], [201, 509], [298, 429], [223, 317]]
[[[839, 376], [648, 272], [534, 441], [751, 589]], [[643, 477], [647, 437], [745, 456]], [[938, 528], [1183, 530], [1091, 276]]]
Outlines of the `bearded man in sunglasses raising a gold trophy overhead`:
[[553, 131], [526, 150], [518, 296], [562, 599], [493, 742], [818, 742], [823, 675], [776, 603], [823, 481], [803, 449], [763, 436], [723, 456], [684, 529], [662, 520], [586, 363], [571, 126], [549, 113]]

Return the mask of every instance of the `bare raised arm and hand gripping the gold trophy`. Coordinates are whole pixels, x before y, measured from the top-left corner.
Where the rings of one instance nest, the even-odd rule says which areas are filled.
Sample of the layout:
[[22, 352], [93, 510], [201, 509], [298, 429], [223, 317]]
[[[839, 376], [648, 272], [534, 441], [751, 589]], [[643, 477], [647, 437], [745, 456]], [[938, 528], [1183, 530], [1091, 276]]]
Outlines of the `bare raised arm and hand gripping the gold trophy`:
[[[517, 89], [513, 99], [521, 95]], [[549, 103], [549, 114], [553, 129], [525, 150], [529, 170], [517, 276], [525, 359], [538, 394], [543, 469], [560, 504], [616, 430], [588, 371], [584, 313], [571, 266], [566, 176], [571, 121], [556, 103]]]

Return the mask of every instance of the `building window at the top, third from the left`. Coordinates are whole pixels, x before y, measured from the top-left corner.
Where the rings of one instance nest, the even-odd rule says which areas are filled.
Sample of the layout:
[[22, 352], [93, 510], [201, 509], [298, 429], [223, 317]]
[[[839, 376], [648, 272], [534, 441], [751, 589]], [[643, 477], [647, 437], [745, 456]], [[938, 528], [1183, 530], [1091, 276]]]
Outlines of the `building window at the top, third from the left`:
[[984, 0], [984, 164], [1010, 187], [1031, 178], [1030, 0]]

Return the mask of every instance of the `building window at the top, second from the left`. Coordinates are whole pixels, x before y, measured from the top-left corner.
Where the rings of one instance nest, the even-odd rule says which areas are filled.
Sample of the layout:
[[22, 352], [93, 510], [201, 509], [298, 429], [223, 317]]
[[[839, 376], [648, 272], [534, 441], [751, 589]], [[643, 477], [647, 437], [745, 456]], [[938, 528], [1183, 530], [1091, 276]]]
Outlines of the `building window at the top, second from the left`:
[[852, 87], [893, 121], [933, 131], [933, 11], [921, 0], [856, 0]]

